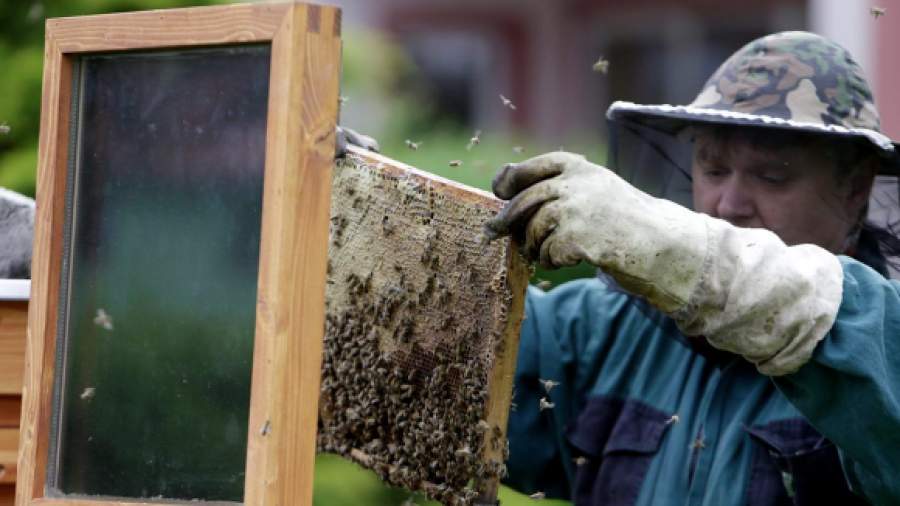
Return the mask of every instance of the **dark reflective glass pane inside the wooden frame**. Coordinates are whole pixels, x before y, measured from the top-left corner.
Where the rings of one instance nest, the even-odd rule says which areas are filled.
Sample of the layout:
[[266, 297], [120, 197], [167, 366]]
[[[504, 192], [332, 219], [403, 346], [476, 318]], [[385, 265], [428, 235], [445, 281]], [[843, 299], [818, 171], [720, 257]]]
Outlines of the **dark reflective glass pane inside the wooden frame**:
[[57, 492], [243, 499], [269, 54], [78, 65]]

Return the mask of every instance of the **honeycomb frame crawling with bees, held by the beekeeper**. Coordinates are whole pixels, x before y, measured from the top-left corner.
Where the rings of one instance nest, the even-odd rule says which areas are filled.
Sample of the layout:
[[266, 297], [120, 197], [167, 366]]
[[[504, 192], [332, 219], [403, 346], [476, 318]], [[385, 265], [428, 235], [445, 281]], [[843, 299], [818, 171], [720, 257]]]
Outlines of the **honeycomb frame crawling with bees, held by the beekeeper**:
[[492, 195], [351, 150], [335, 168], [323, 451], [445, 503], [495, 499], [528, 267]]

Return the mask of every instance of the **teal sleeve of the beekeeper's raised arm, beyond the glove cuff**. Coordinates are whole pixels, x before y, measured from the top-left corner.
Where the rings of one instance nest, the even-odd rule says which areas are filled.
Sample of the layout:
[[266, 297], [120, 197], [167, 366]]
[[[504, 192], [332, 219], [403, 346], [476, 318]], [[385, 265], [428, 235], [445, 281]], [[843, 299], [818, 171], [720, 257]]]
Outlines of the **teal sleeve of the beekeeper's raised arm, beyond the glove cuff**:
[[837, 445], [855, 492], [900, 504], [900, 283], [841, 258], [843, 298], [828, 335], [776, 386]]

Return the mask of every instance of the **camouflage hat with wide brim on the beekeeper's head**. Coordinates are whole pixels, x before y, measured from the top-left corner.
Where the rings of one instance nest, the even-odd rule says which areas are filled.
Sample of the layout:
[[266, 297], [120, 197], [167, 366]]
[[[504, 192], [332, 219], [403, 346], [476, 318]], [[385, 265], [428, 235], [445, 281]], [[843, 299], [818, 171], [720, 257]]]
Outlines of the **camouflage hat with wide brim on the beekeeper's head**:
[[689, 105], [615, 102], [606, 117], [671, 134], [701, 122], [862, 138], [881, 154], [882, 174], [900, 175], [900, 145], [881, 133], [862, 69], [846, 49], [809, 32], [750, 42], [716, 70]]

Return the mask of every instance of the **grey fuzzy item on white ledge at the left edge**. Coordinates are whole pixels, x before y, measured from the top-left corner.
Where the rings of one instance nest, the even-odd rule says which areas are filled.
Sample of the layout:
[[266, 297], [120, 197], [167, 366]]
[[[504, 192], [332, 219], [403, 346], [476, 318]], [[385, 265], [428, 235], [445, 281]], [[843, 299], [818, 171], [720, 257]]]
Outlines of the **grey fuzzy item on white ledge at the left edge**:
[[0, 188], [0, 279], [31, 278], [34, 200]]

